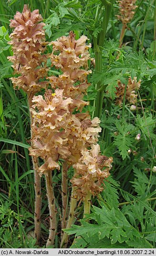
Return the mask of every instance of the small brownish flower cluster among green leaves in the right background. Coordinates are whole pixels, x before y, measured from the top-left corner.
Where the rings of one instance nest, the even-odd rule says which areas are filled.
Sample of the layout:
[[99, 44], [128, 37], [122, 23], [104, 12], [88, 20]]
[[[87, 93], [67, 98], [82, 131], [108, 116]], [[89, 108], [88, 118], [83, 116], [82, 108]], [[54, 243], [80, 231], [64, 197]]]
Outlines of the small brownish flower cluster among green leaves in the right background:
[[[131, 77], [128, 78], [128, 84], [126, 87], [126, 94], [125, 99], [130, 104], [135, 104], [137, 99], [136, 90], [140, 88], [141, 80], [137, 82], [137, 78], [134, 77], [133, 79]], [[125, 84], [122, 84], [120, 80], [117, 82], [118, 87], [116, 88], [116, 104], [121, 106], [124, 98], [125, 93]]]

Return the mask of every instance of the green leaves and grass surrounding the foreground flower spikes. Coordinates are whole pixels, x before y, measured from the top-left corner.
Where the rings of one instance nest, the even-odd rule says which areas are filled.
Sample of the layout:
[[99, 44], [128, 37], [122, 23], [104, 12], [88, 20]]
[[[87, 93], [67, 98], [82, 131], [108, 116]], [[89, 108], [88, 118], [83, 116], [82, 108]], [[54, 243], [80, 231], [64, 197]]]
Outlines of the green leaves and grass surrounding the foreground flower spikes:
[[[26, 93], [14, 90], [9, 35], [10, 19], [29, 4], [39, 9], [48, 42], [72, 30], [86, 35], [92, 48], [88, 61], [91, 85], [83, 108], [101, 119], [101, 153], [113, 157], [104, 190], [92, 198], [91, 213], [83, 216], [77, 203], [75, 223], [68, 233], [72, 248], [155, 248], [156, 243], [156, 0], [137, 0], [121, 14], [127, 1], [1, 0], [0, 4], [0, 247], [43, 248], [49, 233], [49, 210], [42, 176], [42, 236], [34, 238], [34, 178], [30, 147], [30, 113]], [[129, 7], [128, 7], [129, 8]], [[131, 12], [131, 15], [130, 15]], [[122, 18], [122, 17], [125, 18]], [[122, 32], [122, 33], [121, 33]], [[52, 52], [52, 45], [46, 53]], [[95, 61], [94, 61], [95, 59]], [[51, 67], [49, 75], [62, 71]], [[19, 65], [20, 69], [20, 65]], [[44, 90], [42, 90], [42, 95]], [[62, 168], [62, 162], [60, 166]], [[73, 168], [68, 170], [70, 200]], [[53, 171], [60, 247], [61, 171]], [[94, 235], [93, 235], [94, 234]], [[73, 242], [74, 241], [74, 242]]]

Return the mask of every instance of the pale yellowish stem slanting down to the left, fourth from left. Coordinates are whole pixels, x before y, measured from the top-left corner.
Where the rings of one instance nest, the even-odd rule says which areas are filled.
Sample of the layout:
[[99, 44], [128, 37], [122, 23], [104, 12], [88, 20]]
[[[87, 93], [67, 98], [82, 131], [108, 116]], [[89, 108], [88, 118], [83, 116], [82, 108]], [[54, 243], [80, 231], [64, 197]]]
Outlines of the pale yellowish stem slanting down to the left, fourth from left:
[[[74, 223], [75, 221], [75, 212], [76, 212], [76, 199], [73, 197], [73, 192], [74, 190], [72, 190], [72, 195], [71, 195], [71, 203], [70, 203], [70, 211], [69, 211], [69, 218], [68, 218], [68, 222], [67, 222], [67, 226], [66, 228], [70, 228], [71, 225]], [[61, 248], [66, 248], [67, 244], [68, 244], [68, 236], [67, 233], [64, 233], [62, 236], [62, 241], [61, 241]]]

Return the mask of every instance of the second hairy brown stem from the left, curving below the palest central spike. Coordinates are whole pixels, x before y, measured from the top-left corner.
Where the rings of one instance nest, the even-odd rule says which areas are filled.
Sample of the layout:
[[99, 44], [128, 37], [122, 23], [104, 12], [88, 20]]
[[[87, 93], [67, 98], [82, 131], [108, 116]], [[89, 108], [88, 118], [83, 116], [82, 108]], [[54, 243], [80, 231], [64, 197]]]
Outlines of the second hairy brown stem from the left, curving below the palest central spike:
[[53, 245], [56, 234], [56, 207], [55, 207], [55, 197], [52, 186], [52, 173], [49, 172], [45, 175], [46, 180], [46, 189], [47, 189], [47, 198], [48, 198], [48, 206], [50, 212], [50, 230], [49, 237], [46, 243], [46, 247]]

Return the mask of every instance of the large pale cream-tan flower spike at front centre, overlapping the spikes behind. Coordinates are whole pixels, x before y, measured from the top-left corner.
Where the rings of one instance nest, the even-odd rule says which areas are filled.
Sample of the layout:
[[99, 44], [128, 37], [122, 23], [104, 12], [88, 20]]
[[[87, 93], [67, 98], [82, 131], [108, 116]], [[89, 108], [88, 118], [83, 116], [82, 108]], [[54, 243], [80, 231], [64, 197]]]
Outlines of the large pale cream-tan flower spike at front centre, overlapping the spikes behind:
[[34, 96], [31, 113], [33, 116], [30, 155], [40, 157], [44, 163], [38, 168], [39, 174], [47, 175], [49, 171], [60, 169], [58, 159], [66, 159], [71, 154], [67, 145], [69, 131], [69, 105], [71, 98], [63, 96], [63, 90], [55, 93], [47, 90], [44, 99], [41, 95]]

